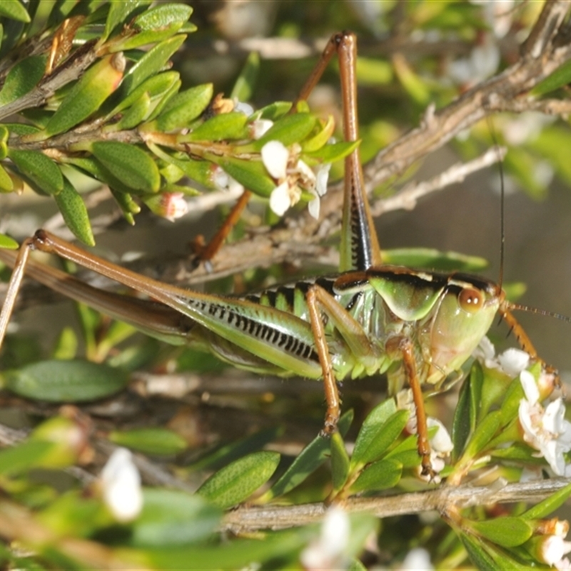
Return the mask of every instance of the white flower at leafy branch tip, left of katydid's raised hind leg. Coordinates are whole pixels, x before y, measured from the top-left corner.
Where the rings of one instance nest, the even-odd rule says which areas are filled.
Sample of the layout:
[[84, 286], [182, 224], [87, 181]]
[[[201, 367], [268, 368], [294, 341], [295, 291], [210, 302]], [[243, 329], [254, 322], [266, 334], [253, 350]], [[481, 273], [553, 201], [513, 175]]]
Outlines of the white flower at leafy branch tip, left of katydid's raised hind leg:
[[261, 150], [262, 162], [278, 185], [270, 195], [270, 208], [278, 215], [293, 206], [301, 198], [302, 189], [315, 198], [308, 204], [313, 218], [319, 217], [320, 197], [327, 192], [330, 164], [323, 164], [314, 172], [300, 158], [298, 148], [289, 151], [280, 141], [268, 141]]

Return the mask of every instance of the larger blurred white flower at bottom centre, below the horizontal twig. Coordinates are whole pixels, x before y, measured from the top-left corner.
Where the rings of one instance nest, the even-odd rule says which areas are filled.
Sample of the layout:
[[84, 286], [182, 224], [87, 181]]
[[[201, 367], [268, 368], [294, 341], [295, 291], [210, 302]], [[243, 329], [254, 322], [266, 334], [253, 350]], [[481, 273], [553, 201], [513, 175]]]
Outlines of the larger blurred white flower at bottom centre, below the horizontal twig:
[[330, 507], [321, 525], [317, 540], [301, 552], [301, 564], [308, 571], [345, 569], [350, 522], [347, 513], [338, 506]]

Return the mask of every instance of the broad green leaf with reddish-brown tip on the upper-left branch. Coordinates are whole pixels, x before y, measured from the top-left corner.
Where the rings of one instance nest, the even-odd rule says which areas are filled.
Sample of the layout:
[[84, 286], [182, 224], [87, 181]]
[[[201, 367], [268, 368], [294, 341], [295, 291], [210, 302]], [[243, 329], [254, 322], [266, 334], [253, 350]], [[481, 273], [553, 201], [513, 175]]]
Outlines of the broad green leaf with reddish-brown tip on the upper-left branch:
[[61, 101], [42, 135], [49, 137], [69, 131], [98, 111], [121, 83], [124, 66], [121, 53], [106, 56], [91, 66]]

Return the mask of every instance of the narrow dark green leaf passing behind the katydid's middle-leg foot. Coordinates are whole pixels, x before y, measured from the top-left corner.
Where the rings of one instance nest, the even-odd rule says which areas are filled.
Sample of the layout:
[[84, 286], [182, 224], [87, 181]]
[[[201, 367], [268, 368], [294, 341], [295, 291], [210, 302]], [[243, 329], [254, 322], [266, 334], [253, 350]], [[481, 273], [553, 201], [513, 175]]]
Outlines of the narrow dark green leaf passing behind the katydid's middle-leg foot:
[[[340, 419], [337, 425], [339, 433], [345, 435], [353, 422], [353, 410], [348, 410]], [[330, 454], [330, 444], [323, 436], [315, 437], [297, 455], [290, 467], [285, 470], [279, 480], [271, 487], [263, 500], [271, 500], [290, 492], [294, 487], [305, 481], [310, 474], [313, 474], [322, 465]]]

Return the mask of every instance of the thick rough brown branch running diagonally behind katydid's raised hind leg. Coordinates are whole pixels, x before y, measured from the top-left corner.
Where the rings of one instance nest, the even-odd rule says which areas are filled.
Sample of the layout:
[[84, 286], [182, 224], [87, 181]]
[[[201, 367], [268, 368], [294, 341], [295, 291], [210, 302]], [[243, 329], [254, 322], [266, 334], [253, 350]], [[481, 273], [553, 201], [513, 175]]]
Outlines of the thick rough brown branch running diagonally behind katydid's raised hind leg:
[[[383, 148], [373, 161], [365, 165], [368, 192], [390, 178], [402, 175], [407, 168], [443, 147], [458, 133], [497, 111], [505, 109], [523, 113], [545, 110], [566, 114], [569, 111], [567, 103], [536, 101], [527, 94], [571, 59], [571, 45], [562, 41], [567, 34], [563, 21], [569, 8], [570, 4], [565, 0], [545, 4], [541, 18], [523, 46], [522, 56], [515, 64], [477, 84], [442, 109], [435, 110], [434, 106], [429, 106], [417, 128]], [[330, 186], [321, 203], [320, 221], [303, 213], [285, 218], [275, 228], [258, 229], [243, 241], [225, 246], [213, 261], [213, 271], [206, 271], [203, 267], [193, 271], [188, 261], [176, 258], [168, 263], [162, 260], [160, 265], [154, 266], [153, 275], [166, 281], [193, 284], [248, 268], [298, 262], [308, 256], [319, 263], [330, 260], [328, 251], [317, 245], [339, 228], [343, 201], [340, 189], [341, 183]], [[397, 204], [399, 200], [395, 198]], [[142, 265], [138, 264], [136, 269], [141, 270]]]

